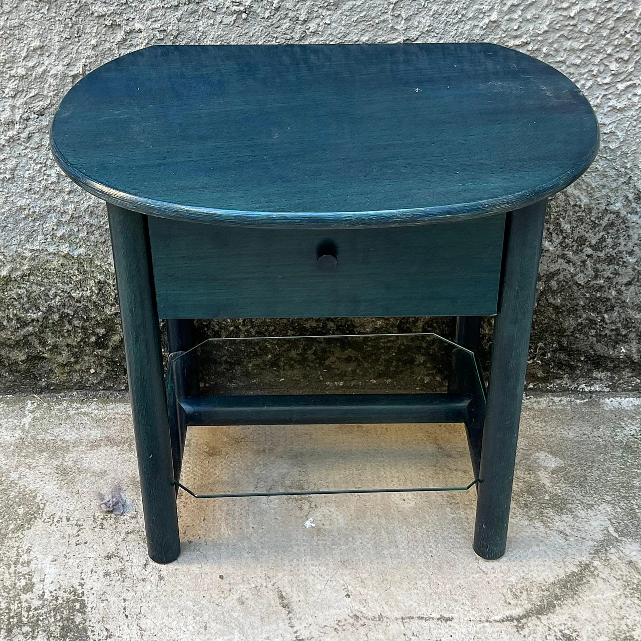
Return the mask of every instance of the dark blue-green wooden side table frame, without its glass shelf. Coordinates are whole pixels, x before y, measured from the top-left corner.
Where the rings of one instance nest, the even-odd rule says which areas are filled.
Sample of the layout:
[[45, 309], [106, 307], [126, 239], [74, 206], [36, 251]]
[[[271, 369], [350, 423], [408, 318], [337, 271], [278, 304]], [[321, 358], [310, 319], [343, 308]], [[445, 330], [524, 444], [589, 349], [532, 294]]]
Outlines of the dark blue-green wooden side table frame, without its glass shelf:
[[495, 315], [487, 406], [462, 371], [420, 403], [269, 397], [242, 420], [465, 421], [474, 550], [501, 556], [545, 205], [598, 140], [569, 79], [492, 44], [158, 46], [74, 85], [51, 148], [107, 203], [151, 558], [180, 551], [186, 426], [242, 405], [189, 367], [165, 395], [159, 317], [171, 365], [192, 319], [401, 315], [458, 317], [472, 351]]

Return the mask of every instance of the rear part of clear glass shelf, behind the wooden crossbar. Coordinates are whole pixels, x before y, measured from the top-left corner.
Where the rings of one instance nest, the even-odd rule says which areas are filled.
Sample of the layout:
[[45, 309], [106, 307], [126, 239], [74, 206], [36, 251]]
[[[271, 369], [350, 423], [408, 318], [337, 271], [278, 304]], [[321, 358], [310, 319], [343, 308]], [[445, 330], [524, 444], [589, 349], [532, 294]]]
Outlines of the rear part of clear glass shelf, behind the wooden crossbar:
[[434, 333], [210, 338], [181, 360], [201, 395], [443, 393], [456, 363], [485, 394], [474, 354]]

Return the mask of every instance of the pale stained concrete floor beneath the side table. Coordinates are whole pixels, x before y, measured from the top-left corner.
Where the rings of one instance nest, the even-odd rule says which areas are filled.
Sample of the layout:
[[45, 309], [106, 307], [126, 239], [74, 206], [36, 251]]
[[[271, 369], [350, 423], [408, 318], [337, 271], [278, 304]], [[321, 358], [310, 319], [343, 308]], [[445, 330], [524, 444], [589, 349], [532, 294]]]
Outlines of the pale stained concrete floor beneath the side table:
[[[4, 397], [0, 638], [641, 639], [640, 435], [638, 397], [526, 399], [496, 562], [472, 552], [474, 490], [181, 493], [183, 552], [160, 566], [126, 399]], [[471, 478], [464, 449], [459, 426], [196, 429], [184, 478], [198, 490], [458, 483]], [[126, 513], [101, 512], [118, 491]]]

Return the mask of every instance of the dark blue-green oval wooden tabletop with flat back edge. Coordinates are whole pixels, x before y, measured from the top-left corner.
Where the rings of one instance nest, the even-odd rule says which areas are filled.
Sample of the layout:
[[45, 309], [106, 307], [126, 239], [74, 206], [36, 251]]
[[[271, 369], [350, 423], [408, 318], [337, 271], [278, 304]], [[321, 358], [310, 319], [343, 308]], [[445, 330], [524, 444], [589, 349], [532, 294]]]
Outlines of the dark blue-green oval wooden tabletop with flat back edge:
[[506, 212], [598, 147], [563, 74], [492, 44], [155, 46], [71, 88], [62, 169], [129, 210], [250, 226]]

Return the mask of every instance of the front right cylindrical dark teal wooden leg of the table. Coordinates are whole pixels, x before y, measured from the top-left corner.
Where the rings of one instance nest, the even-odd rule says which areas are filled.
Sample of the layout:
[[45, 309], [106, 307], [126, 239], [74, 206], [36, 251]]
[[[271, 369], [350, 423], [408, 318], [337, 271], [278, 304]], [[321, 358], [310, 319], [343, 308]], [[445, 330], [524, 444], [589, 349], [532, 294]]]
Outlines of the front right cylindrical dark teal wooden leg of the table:
[[483, 426], [474, 551], [503, 556], [547, 201], [508, 215]]

